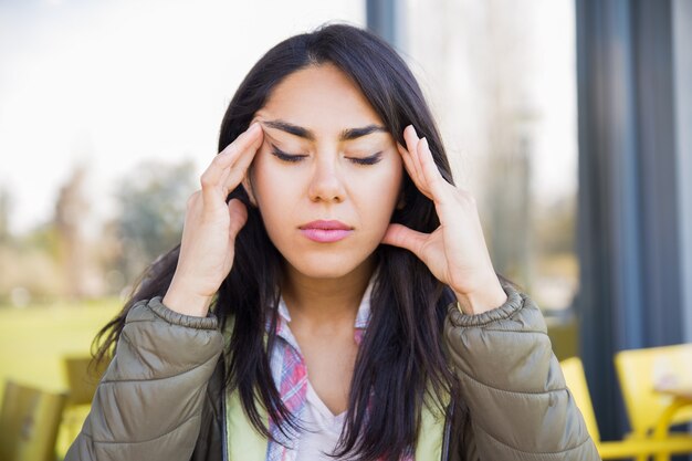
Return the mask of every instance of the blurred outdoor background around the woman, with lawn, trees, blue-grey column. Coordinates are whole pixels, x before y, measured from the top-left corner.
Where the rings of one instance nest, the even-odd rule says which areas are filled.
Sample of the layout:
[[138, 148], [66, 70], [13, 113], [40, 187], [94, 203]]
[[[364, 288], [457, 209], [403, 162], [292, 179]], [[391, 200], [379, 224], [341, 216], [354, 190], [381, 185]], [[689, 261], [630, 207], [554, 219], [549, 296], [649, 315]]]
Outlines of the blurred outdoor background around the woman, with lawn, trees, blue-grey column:
[[411, 66], [495, 269], [558, 358], [584, 360], [601, 438], [622, 438], [614, 355], [692, 342], [685, 0], [0, 0], [0, 380], [86, 379], [69, 359], [179, 242], [244, 74], [325, 22]]

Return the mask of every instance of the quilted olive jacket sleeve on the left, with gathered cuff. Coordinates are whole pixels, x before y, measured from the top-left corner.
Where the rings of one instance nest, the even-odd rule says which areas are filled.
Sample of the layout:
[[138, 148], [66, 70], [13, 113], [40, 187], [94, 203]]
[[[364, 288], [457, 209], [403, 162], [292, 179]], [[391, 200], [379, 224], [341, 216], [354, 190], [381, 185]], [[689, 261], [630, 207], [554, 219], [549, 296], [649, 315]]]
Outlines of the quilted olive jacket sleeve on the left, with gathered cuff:
[[137, 303], [65, 460], [189, 461], [222, 347], [216, 317]]

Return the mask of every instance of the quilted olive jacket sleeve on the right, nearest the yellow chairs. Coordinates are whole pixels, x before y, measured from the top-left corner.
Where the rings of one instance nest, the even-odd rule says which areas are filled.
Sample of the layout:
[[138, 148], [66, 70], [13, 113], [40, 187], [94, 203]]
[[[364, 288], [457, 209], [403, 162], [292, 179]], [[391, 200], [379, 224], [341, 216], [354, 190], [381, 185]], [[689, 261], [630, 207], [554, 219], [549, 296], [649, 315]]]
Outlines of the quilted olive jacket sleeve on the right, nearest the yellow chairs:
[[507, 301], [478, 315], [450, 308], [444, 335], [469, 423], [461, 459], [599, 460], [566, 388], [535, 303], [511, 285]]

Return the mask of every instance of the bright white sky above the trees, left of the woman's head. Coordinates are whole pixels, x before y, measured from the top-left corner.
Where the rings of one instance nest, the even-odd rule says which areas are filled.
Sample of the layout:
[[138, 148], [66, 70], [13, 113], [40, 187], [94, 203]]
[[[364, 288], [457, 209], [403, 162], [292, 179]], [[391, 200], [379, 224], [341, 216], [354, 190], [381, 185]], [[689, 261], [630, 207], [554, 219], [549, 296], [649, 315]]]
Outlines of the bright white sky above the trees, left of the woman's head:
[[[221, 118], [250, 67], [325, 21], [365, 24], [365, 2], [0, 0], [0, 187], [10, 229], [53, 216], [77, 165], [94, 222], [114, 179], [143, 159], [217, 154]], [[136, 178], [133, 178], [136, 180]]]

